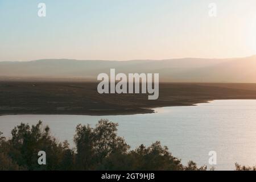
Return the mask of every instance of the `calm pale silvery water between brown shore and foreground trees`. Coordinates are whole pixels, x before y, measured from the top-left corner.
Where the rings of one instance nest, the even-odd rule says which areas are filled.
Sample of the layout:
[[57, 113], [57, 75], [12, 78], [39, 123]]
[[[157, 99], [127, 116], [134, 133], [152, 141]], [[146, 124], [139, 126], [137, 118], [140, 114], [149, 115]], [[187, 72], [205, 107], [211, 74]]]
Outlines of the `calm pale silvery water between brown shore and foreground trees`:
[[217, 152], [217, 170], [233, 170], [234, 163], [256, 165], [256, 100], [217, 100], [197, 106], [162, 107], [154, 114], [135, 115], [6, 115], [0, 131], [10, 131], [20, 122], [49, 125], [59, 141], [72, 139], [79, 123], [95, 126], [101, 118], [118, 122], [118, 135], [132, 148], [159, 140], [182, 159], [208, 164], [209, 151]]

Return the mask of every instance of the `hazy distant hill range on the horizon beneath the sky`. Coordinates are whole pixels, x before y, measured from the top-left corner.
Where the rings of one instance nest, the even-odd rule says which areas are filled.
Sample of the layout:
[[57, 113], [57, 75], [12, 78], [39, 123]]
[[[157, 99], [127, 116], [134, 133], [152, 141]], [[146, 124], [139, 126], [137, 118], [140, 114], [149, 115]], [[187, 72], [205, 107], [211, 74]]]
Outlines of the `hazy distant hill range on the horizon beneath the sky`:
[[110, 68], [122, 73], [159, 73], [165, 82], [256, 82], [256, 56], [234, 59], [70, 60], [0, 62], [1, 80], [89, 80]]

